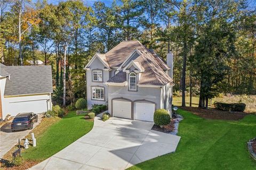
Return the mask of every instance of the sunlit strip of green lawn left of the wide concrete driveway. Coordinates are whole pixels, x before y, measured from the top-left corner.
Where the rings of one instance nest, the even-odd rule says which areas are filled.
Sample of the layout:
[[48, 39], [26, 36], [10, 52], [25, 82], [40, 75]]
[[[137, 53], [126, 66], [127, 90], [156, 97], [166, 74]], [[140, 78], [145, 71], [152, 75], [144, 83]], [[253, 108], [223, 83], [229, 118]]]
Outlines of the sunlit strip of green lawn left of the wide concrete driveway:
[[37, 147], [30, 147], [22, 156], [31, 160], [47, 159], [91, 131], [92, 127], [92, 121], [85, 120], [84, 115], [76, 115], [75, 111], [71, 111], [42, 135], [35, 136]]

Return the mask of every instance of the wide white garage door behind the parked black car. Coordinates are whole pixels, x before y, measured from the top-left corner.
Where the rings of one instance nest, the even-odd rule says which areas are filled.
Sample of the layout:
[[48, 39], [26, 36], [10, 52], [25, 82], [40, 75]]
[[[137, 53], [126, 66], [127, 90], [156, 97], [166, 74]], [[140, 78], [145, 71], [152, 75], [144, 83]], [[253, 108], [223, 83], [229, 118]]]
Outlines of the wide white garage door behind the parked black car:
[[34, 112], [38, 114], [47, 111], [46, 100], [10, 102], [9, 106], [9, 112], [12, 116], [16, 116], [21, 112]]

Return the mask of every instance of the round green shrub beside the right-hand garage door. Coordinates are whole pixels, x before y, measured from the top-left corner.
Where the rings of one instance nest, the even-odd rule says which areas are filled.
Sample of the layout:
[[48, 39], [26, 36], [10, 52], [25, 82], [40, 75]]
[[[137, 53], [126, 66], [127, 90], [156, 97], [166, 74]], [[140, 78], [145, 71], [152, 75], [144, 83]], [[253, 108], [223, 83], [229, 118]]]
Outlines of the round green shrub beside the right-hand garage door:
[[158, 126], [167, 125], [171, 122], [171, 117], [167, 110], [157, 109], [154, 112], [154, 123]]

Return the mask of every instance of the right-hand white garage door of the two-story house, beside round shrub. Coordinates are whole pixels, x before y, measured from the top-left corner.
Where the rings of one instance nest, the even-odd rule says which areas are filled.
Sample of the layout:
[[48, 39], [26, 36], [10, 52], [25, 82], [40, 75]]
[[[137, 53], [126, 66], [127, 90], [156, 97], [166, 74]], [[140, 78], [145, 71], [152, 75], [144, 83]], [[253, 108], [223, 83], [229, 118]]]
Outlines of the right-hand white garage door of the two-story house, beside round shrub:
[[155, 104], [135, 102], [135, 119], [154, 122]]

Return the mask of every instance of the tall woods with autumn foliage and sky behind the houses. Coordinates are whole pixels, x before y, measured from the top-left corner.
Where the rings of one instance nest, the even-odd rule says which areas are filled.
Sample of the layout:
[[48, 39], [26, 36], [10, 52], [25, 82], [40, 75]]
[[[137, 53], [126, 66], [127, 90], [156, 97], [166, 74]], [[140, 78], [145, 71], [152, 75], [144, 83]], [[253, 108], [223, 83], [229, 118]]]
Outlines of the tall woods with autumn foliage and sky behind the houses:
[[[86, 2], [86, 1], [85, 1]], [[0, 59], [52, 65], [55, 102], [86, 99], [83, 67], [99, 52], [139, 40], [174, 54], [174, 95], [256, 94], [256, 2], [243, 0], [0, 1]]]

